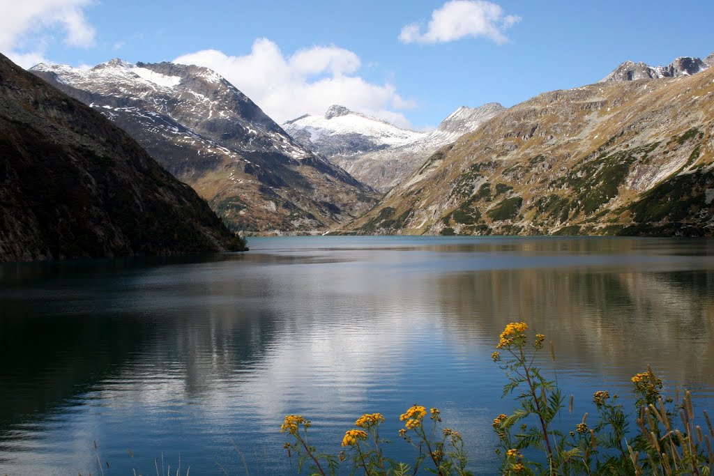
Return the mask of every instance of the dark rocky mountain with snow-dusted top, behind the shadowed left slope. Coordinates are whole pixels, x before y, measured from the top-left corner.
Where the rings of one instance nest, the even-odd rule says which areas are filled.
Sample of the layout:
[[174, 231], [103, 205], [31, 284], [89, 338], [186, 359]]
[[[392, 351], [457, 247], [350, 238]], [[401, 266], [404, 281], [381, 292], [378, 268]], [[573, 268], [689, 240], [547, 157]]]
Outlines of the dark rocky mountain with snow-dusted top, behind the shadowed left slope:
[[324, 230], [375, 201], [371, 188], [293, 141], [210, 69], [113, 59], [30, 71], [124, 128], [233, 230]]

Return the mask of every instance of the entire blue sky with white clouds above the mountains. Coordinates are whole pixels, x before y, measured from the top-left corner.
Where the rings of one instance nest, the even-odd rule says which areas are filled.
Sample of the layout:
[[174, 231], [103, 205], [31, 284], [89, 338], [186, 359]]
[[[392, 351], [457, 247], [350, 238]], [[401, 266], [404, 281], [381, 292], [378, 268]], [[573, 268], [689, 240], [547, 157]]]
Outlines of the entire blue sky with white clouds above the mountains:
[[[194, 62], [278, 122], [331, 103], [401, 126], [714, 52], [714, 1], [0, 0], [0, 51], [94, 65]], [[430, 26], [431, 21], [431, 26]]]

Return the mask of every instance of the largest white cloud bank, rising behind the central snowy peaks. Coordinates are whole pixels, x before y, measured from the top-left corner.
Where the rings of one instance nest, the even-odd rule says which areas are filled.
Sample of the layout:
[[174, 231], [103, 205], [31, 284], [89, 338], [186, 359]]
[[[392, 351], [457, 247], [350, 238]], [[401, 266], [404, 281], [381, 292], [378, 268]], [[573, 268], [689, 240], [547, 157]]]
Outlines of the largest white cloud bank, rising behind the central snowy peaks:
[[402, 127], [409, 122], [399, 109], [413, 107], [389, 83], [356, 76], [359, 56], [336, 46], [315, 46], [286, 56], [268, 39], [253, 42], [246, 56], [203, 50], [174, 59], [206, 66], [246, 93], [268, 116], [282, 123], [304, 113], [322, 114], [333, 104], [377, 116]]

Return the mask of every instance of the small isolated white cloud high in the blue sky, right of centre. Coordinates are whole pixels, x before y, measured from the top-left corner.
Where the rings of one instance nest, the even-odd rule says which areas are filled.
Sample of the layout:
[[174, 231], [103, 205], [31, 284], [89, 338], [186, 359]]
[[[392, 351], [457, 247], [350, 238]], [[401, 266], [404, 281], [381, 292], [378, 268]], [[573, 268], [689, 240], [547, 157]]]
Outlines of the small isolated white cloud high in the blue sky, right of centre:
[[505, 29], [521, 21], [520, 16], [506, 15], [498, 4], [484, 0], [452, 0], [431, 13], [426, 32], [421, 26], [403, 27], [399, 40], [403, 43], [446, 43], [479, 36], [503, 44], [508, 39]]

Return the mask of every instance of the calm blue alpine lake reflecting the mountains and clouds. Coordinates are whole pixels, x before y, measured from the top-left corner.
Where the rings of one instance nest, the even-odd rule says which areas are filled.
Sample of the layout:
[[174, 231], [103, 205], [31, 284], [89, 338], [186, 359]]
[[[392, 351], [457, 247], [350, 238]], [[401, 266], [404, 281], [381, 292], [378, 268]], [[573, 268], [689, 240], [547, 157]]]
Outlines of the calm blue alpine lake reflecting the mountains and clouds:
[[496, 474], [491, 422], [514, 403], [491, 353], [516, 320], [553, 341], [543, 365], [575, 395], [564, 427], [593, 412], [595, 390], [631, 402], [647, 364], [714, 410], [714, 240], [249, 245], [0, 265], [0, 474], [96, 475], [98, 455], [104, 475], [153, 475], [162, 458], [181, 474], [296, 474], [288, 413], [336, 453], [381, 412], [388, 452], [413, 462], [397, 430], [415, 402], [463, 434], [472, 470]]

